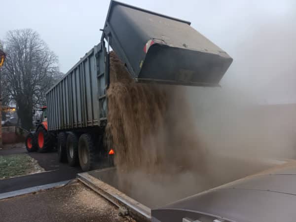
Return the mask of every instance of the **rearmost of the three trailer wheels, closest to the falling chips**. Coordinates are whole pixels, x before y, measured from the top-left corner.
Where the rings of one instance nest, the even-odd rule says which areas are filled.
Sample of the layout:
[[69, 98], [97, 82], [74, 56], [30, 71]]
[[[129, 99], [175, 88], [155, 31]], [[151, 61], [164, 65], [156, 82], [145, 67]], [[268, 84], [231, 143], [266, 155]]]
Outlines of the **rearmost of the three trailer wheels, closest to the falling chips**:
[[95, 147], [89, 134], [82, 134], [78, 143], [79, 163], [83, 171], [90, 171], [95, 165]]

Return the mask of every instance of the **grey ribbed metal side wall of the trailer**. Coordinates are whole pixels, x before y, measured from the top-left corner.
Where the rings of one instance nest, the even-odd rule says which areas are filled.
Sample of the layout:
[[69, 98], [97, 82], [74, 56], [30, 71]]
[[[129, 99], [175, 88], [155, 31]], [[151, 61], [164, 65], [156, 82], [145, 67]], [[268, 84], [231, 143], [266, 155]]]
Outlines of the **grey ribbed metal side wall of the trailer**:
[[46, 94], [48, 130], [106, 125], [106, 47], [99, 43]]

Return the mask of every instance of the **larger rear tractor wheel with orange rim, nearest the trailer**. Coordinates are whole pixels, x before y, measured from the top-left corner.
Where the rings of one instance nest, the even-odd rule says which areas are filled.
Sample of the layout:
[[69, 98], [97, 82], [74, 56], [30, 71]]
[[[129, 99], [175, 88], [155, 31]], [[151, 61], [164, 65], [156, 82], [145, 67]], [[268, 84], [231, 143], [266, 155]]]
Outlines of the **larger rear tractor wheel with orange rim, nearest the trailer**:
[[[43, 139], [42, 139], [43, 138]], [[36, 133], [37, 148], [39, 152], [47, 152], [51, 150], [53, 138], [43, 126], [37, 129]]]

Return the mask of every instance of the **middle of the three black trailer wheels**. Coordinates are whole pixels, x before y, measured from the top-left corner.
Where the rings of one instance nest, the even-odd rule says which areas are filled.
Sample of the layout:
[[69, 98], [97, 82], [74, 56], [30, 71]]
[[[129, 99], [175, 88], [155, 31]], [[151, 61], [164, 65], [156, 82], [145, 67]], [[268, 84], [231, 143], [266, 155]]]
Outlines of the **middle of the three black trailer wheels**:
[[67, 159], [70, 166], [77, 166], [78, 159], [78, 138], [74, 133], [69, 133], [67, 136]]

